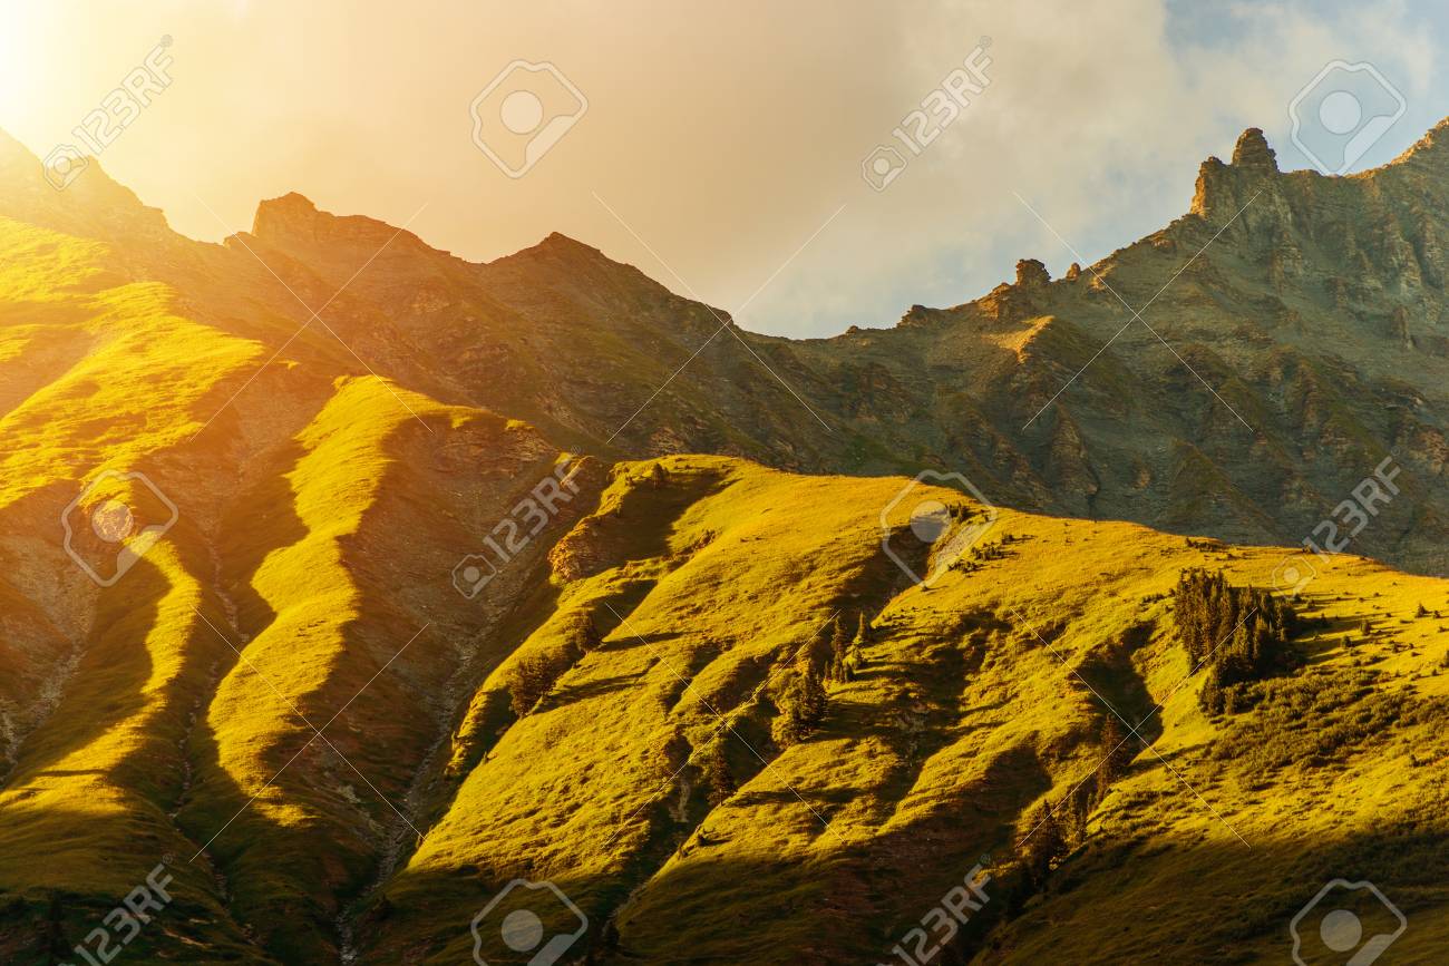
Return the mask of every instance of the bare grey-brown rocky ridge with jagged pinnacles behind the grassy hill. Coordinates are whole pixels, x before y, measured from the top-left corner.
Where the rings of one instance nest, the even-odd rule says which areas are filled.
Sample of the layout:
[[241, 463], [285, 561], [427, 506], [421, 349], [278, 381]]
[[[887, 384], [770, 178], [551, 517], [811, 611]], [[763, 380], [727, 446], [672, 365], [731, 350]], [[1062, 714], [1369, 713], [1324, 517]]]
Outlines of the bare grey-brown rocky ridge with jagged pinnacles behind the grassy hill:
[[[604, 453], [951, 469], [1003, 504], [1287, 545], [1392, 456], [1404, 494], [1355, 549], [1449, 572], [1442, 139], [1324, 178], [1250, 129], [1184, 217], [1095, 265], [1023, 259], [982, 298], [824, 340], [738, 330], [561, 236], [490, 265], [406, 236], [348, 291], [458, 398]], [[339, 243], [362, 223], [284, 198], [258, 236], [341, 284], [385, 240]]]

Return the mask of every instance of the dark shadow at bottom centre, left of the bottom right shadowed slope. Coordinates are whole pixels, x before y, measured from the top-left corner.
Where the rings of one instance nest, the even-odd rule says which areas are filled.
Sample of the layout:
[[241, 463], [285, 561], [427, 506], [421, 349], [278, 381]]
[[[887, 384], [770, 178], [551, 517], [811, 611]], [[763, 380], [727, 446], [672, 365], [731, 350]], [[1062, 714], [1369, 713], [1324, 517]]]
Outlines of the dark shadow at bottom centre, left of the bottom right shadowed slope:
[[[758, 849], [713, 830], [691, 839], [690, 847], [662, 850], [648, 860], [645, 853], [610, 856], [611, 866], [626, 870], [617, 878], [575, 878], [556, 868], [490, 872], [490, 863], [474, 856], [468, 873], [409, 875], [406, 895], [427, 896], [426, 904], [388, 904], [385, 914], [367, 921], [364, 946], [367, 957], [377, 962], [394, 962], [403, 949], [426, 949], [420, 962], [467, 962], [472, 917], [510, 878], [525, 876], [549, 879], [584, 911], [590, 928], [581, 941], [590, 963], [884, 960], [901, 934], [984, 854], [1009, 853], [1017, 814], [1049, 784], [1035, 753], [1011, 749], [978, 779], [933, 802], [929, 814], [864, 843], [859, 827], [838, 833], [820, 826], [817, 817], [829, 821], [858, 801], [861, 789], [807, 789], [809, 810], [788, 788], [748, 791], [724, 808], [756, 808], [777, 817], [771, 821], [809, 828], [814, 840], [809, 860], [722, 859], [717, 849], [732, 840], [746, 852]], [[658, 824], [672, 824], [665, 810]], [[764, 833], [762, 841], [771, 837]], [[988, 895], [997, 905], [988, 902], [978, 924], [964, 931], [972, 938], [958, 940], [962, 949], [974, 947], [980, 931], [1006, 907], [993, 889], [988, 886]], [[490, 963], [527, 962], [526, 956], [510, 957], [487, 930], [481, 936]]]

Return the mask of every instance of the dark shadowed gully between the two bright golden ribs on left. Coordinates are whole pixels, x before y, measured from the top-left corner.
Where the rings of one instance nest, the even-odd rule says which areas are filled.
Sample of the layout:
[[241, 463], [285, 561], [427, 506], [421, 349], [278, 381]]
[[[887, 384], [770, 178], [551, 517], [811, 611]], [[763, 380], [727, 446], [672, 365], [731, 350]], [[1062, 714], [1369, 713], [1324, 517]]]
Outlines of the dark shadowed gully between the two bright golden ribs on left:
[[[291, 429], [300, 432], [314, 416], [290, 413]], [[193, 565], [203, 585], [214, 588], [204, 595], [201, 610], [216, 633], [204, 624], [201, 631], [226, 643], [217, 642], [214, 682], [190, 736], [194, 778], [177, 824], [197, 849], [206, 846], [206, 859], [197, 862], [214, 863], [229, 892], [227, 910], [254, 930], [261, 949], [281, 962], [330, 962], [336, 959], [336, 895], [365, 879], [371, 850], [365, 836], [339, 818], [355, 814], [354, 808], [339, 804], [327, 788], [333, 775], [352, 775], [351, 769], [313, 736], [301, 715], [325, 726], [341, 701], [323, 708], [313, 704], [314, 695], [296, 694], [288, 669], [270, 666], [254, 646], [277, 620], [254, 587], [256, 574], [272, 553], [309, 534], [288, 479], [304, 455], [291, 433], [285, 446], [265, 453], [267, 472], [235, 498], [217, 526], [220, 546]], [[284, 646], [271, 642], [274, 655]], [[223, 686], [230, 695], [230, 755], [252, 756], [256, 772], [265, 772], [265, 778], [252, 776], [255, 798], [222, 759], [214, 702]], [[252, 694], [264, 707], [280, 704], [283, 720], [268, 721], [259, 710], [242, 711]], [[290, 710], [293, 704], [296, 710]], [[333, 742], [341, 734], [341, 723], [327, 728]], [[306, 821], [283, 824], [278, 817], [287, 812], [306, 815]], [[319, 828], [326, 828], [325, 837], [317, 836]]]

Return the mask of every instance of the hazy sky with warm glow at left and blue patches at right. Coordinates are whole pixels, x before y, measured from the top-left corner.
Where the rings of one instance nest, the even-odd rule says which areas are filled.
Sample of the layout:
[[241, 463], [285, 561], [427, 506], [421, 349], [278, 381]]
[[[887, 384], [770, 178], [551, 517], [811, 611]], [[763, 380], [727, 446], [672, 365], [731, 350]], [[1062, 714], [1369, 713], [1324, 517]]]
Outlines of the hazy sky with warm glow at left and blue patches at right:
[[959, 304], [1019, 258], [1103, 258], [1185, 213], [1245, 127], [1313, 165], [1301, 91], [1317, 154], [1356, 133], [1303, 119], [1342, 107], [1329, 87], [1398, 103], [1365, 71], [1314, 84], [1332, 61], [1403, 97], [1348, 169], [1384, 164], [1449, 116], [1446, 41], [1427, 1], [0, 0], [0, 129], [94, 154], [75, 127], [159, 64], [99, 162], [185, 235], [288, 191], [471, 261], [562, 232], [819, 337]]

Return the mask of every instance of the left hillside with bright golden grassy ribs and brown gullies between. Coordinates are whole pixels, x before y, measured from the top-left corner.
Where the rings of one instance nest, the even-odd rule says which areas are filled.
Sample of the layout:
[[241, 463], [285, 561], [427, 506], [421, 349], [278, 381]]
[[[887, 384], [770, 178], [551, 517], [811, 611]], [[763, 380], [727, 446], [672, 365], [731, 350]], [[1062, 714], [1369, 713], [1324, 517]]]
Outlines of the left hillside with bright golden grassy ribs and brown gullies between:
[[[175, 917], [129, 954], [335, 957], [342, 896], [416, 836], [406, 794], [503, 658], [506, 607], [451, 569], [559, 453], [338, 365], [330, 335], [213, 324], [248, 300], [225, 284], [183, 300], [9, 220], [0, 251], [0, 959], [65, 953], [159, 862]], [[104, 556], [88, 511], [151, 484], [174, 527], [97, 587], [62, 516]]]

